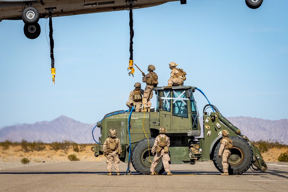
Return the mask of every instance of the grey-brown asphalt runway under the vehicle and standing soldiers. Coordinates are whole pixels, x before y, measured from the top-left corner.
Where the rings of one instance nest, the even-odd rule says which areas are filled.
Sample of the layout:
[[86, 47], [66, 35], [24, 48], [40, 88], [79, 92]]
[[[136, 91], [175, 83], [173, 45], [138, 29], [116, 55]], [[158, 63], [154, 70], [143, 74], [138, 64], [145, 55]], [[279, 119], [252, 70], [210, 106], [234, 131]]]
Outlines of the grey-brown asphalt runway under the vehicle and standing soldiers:
[[107, 176], [105, 161], [78, 161], [0, 170], [0, 191], [287, 191], [288, 163], [266, 162], [267, 172], [221, 176], [212, 161], [170, 165], [173, 176], [140, 175], [121, 162]]

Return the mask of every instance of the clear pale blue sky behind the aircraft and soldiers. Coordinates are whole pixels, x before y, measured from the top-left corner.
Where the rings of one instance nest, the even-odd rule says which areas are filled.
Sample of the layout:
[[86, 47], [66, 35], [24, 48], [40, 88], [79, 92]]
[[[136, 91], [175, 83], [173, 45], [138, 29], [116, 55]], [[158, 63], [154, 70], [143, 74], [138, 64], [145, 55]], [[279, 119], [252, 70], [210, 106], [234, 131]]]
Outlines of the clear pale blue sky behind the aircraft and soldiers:
[[[145, 73], [154, 64], [159, 86], [167, 85], [168, 63], [178, 63], [187, 72], [184, 84], [201, 89], [224, 117], [287, 119], [287, 7], [286, 0], [264, 0], [258, 9], [245, 0], [188, 0], [135, 9], [134, 63]], [[46, 19], [33, 40], [22, 20], [0, 23], [0, 128], [60, 115], [96, 123], [128, 109], [129, 92], [142, 82], [136, 67], [134, 78], [127, 71], [128, 11], [52, 21], [55, 85]], [[194, 97], [202, 115], [207, 101], [197, 91]]]

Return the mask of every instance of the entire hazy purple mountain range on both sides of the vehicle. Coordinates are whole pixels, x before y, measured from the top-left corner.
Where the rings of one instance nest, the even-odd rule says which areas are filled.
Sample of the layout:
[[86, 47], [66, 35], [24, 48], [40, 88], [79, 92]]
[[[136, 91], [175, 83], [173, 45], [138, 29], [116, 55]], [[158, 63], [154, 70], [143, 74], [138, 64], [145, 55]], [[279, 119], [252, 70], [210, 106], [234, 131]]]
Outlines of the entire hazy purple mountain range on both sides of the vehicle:
[[[265, 120], [251, 117], [228, 117], [234, 126], [250, 140], [277, 140], [288, 144], [288, 119]], [[203, 118], [200, 118], [200, 124]], [[52, 121], [41, 121], [34, 124], [21, 124], [0, 129], [0, 142], [5, 140], [53, 141], [71, 140], [77, 143], [95, 143], [92, 129], [96, 124], [81, 123], [66, 116], [60, 116]], [[202, 126], [202, 125], [201, 125]], [[203, 128], [202, 128], [203, 129]], [[98, 141], [100, 129], [95, 128], [94, 138]]]

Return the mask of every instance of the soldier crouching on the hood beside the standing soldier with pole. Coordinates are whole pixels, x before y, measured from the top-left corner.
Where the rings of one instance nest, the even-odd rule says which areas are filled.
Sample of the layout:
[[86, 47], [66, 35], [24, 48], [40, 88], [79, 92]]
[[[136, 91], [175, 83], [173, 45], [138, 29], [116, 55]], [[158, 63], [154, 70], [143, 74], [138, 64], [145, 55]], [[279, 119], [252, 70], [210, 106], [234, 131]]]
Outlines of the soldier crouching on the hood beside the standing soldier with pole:
[[133, 107], [135, 104], [135, 112], [142, 111], [142, 95], [144, 90], [141, 89], [141, 83], [134, 84], [135, 89], [129, 94], [129, 101], [126, 102], [127, 107]]

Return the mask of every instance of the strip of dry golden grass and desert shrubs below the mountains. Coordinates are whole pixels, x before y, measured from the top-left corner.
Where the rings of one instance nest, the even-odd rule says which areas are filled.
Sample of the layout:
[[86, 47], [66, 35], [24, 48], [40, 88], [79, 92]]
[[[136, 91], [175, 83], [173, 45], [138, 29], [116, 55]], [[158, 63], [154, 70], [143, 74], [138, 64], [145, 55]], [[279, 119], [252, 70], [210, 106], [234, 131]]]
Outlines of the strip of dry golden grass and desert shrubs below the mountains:
[[[260, 140], [253, 142], [262, 154], [265, 161], [278, 161], [281, 154], [288, 151], [285, 144], [274, 140]], [[0, 162], [21, 162], [27, 158], [31, 163], [57, 163], [62, 161], [105, 161], [103, 155], [94, 157], [91, 147], [94, 144], [77, 144], [75, 142], [63, 140], [50, 144], [37, 142], [0, 142]], [[73, 155], [75, 159], [68, 157]]]

